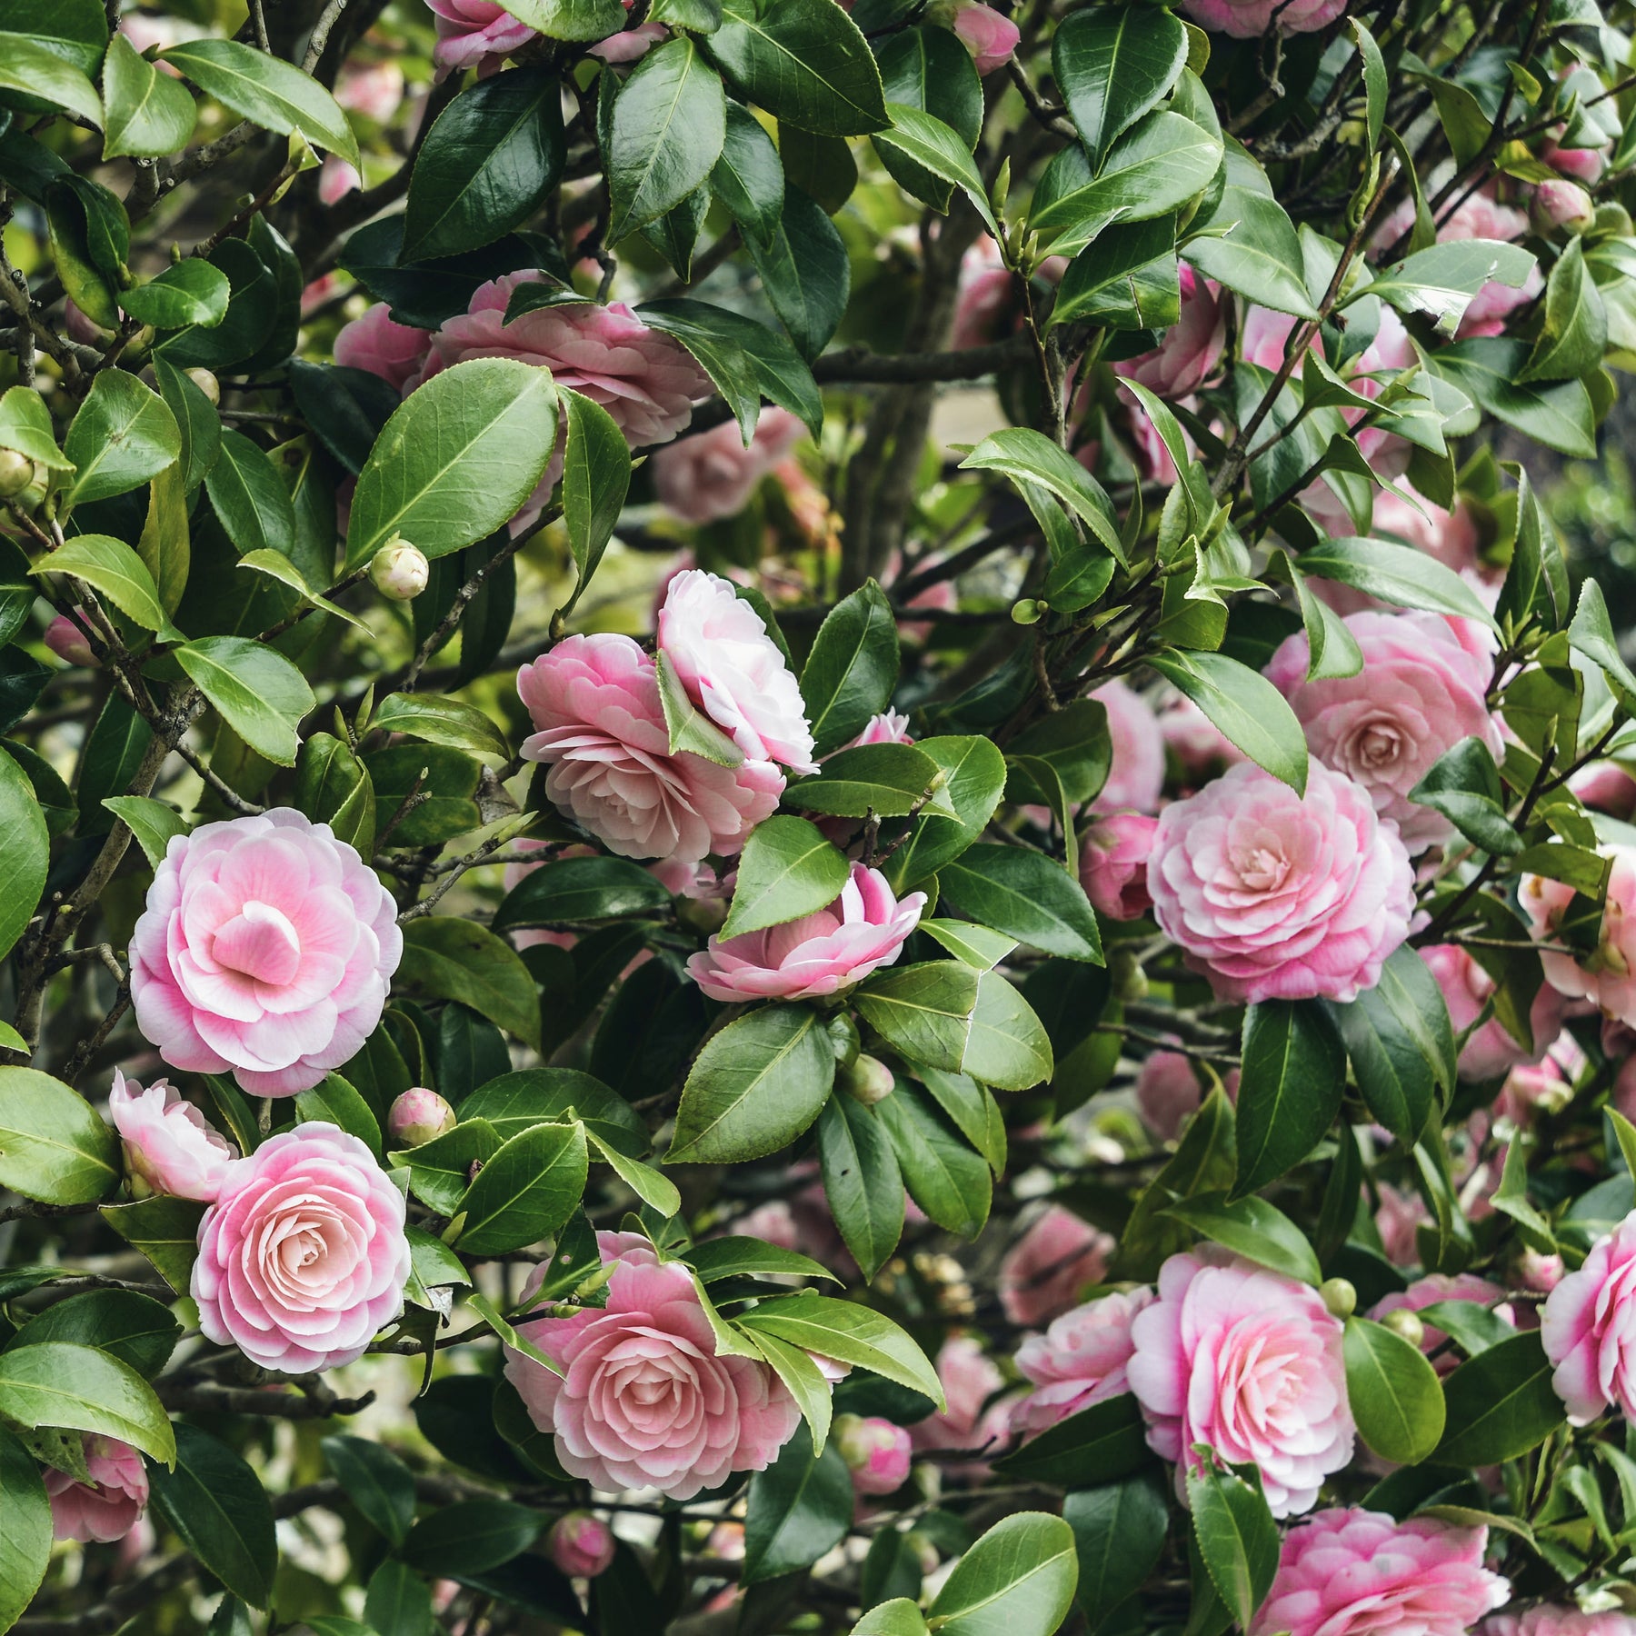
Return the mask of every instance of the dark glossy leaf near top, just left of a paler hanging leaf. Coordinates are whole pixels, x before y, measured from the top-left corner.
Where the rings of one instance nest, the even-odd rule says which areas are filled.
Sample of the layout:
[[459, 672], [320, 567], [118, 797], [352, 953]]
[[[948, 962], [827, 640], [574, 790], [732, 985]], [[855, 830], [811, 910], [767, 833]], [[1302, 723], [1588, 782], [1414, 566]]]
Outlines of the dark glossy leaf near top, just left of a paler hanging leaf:
[[530, 65], [478, 80], [420, 144], [399, 258], [424, 262], [504, 239], [556, 187], [566, 152], [555, 70]]

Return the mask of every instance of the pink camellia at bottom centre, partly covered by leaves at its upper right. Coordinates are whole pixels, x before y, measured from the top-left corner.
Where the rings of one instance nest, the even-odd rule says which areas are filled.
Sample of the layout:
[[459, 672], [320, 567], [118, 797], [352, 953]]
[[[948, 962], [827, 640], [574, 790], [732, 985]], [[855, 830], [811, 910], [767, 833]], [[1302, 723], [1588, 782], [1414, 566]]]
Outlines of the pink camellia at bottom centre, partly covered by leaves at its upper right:
[[[607, 1307], [520, 1325], [563, 1373], [506, 1348], [506, 1379], [556, 1441], [564, 1471], [592, 1487], [658, 1489], [690, 1500], [735, 1471], [762, 1471], [800, 1425], [764, 1363], [717, 1355], [692, 1273], [659, 1261], [640, 1234], [599, 1232], [615, 1263]], [[545, 1276], [542, 1265], [525, 1299]]]

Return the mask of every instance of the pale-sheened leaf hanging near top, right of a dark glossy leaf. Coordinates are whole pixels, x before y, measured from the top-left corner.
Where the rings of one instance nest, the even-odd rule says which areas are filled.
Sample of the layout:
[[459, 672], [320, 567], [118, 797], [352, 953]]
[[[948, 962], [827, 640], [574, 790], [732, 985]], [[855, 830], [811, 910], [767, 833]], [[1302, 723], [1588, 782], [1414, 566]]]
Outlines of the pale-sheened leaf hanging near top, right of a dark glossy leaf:
[[682, 34], [649, 51], [614, 101], [604, 154], [609, 244], [681, 204], [708, 178], [725, 139], [721, 80], [694, 39]]

